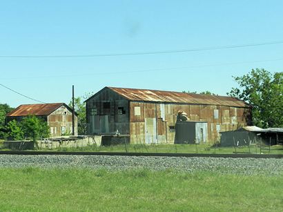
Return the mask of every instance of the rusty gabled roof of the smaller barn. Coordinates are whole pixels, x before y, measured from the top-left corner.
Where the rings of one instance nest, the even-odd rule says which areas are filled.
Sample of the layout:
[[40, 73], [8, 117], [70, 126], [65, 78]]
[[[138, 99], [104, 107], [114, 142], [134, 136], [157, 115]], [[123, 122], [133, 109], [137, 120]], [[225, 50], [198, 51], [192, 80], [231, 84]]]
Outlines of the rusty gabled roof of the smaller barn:
[[[50, 115], [55, 110], [65, 106], [68, 110], [72, 109], [65, 103], [51, 103], [51, 104], [22, 104], [7, 114], [12, 116], [27, 116], [27, 115]], [[76, 114], [77, 115], [77, 114]]]

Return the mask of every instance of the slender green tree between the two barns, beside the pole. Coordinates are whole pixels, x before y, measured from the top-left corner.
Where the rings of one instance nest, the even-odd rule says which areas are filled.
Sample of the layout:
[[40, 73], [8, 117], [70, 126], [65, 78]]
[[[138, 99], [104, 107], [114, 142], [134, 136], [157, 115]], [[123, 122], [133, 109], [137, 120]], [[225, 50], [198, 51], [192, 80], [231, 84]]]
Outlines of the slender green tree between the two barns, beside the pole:
[[[79, 135], [86, 134], [86, 104], [84, 101], [92, 96], [92, 93], [86, 93], [81, 97], [75, 97], [75, 111], [77, 113], [77, 131]], [[72, 108], [72, 99], [68, 105]]]

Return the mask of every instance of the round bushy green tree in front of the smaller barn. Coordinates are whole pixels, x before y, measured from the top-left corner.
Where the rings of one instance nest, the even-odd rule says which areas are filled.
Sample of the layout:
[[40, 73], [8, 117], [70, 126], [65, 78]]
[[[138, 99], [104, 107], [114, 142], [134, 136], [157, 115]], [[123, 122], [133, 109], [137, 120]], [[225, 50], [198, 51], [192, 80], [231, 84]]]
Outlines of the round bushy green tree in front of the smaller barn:
[[35, 115], [24, 117], [20, 124], [23, 135], [25, 135], [25, 137], [28, 139], [32, 139], [33, 142], [36, 142], [37, 139], [40, 139], [41, 137], [50, 136], [50, 128], [47, 122], [36, 117]]

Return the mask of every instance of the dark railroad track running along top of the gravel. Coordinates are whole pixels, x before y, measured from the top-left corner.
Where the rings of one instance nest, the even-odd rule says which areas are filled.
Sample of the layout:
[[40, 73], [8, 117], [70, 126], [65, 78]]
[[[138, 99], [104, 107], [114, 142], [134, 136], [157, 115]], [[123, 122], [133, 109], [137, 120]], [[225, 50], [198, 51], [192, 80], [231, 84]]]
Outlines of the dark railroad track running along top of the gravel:
[[116, 153], [116, 152], [58, 152], [58, 151], [0, 151], [0, 155], [119, 155], [154, 157], [224, 157], [224, 158], [283, 158], [283, 155], [263, 154], [201, 154], [201, 153]]

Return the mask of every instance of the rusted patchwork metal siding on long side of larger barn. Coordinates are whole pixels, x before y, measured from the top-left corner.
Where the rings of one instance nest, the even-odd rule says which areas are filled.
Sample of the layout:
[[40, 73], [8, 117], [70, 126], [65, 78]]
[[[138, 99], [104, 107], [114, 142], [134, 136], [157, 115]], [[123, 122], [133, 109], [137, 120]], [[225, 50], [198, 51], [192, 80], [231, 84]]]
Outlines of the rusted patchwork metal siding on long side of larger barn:
[[[141, 115], [135, 115], [133, 109], [135, 106], [141, 107], [141, 111], [143, 111]], [[164, 108], [162, 109], [164, 115], [161, 108]], [[208, 142], [219, 139], [220, 132], [235, 130], [240, 126], [245, 126], [246, 120], [251, 120], [251, 117], [244, 117], [250, 110], [248, 108], [130, 102], [130, 142], [174, 143], [175, 133], [170, 131], [170, 126], [175, 126], [178, 110], [187, 113], [189, 121], [207, 122], [203, 131], [204, 139]], [[214, 117], [215, 110], [218, 111], [217, 117]], [[154, 122], [153, 119], [155, 119]], [[156, 126], [156, 132], [152, 130], [153, 126]], [[147, 131], [150, 131], [151, 138], [149, 138]]]

